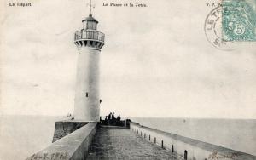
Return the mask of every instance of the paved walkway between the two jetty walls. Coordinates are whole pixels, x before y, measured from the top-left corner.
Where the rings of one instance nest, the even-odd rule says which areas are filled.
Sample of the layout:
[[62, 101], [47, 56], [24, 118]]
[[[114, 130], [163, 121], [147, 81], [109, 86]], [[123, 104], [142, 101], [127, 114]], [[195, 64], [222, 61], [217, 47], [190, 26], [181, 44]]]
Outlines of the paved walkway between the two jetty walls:
[[130, 129], [99, 128], [87, 159], [181, 159]]

